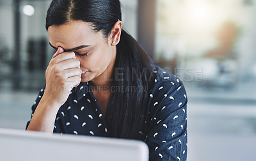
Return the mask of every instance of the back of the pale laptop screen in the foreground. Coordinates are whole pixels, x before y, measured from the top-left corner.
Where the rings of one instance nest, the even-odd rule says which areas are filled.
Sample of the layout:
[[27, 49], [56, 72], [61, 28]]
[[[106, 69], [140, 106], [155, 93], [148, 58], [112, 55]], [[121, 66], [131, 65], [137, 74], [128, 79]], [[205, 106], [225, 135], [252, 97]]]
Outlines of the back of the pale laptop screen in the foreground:
[[0, 160], [148, 160], [145, 142], [0, 128]]

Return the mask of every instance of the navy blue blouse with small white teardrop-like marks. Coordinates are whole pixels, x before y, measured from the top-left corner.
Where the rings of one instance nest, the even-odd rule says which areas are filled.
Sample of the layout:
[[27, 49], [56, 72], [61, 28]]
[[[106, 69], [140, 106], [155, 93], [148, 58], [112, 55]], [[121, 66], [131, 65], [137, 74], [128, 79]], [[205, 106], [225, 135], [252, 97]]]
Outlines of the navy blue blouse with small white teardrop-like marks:
[[[154, 73], [157, 77], [148, 95], [149, 128], [145, 138], [149, 160], [185, 161], [188, 149], [185, 88], [177, 77], [159, 66], [155, 66]], [[109, 137], [108, 125], [88, 82], [81, 82], [74, 89], [58, 111], [53, 132]], [[32, 106], [32, 116], [43, 95], [44, 88]]]

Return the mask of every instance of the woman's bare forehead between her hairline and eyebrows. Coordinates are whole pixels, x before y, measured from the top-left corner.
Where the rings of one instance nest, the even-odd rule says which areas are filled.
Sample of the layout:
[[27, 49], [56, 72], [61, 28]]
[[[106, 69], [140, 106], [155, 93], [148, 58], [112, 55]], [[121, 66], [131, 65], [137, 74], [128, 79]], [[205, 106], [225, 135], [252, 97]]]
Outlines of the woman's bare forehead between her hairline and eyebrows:
[[103, 38], [101, 32], [95, 33], [91, 24], [81, 20], [71, 20], [60, 26], [48, 28], [49, 41], [55, 47], [61, 46], [66, 49], [77, 45], [90, 45]]

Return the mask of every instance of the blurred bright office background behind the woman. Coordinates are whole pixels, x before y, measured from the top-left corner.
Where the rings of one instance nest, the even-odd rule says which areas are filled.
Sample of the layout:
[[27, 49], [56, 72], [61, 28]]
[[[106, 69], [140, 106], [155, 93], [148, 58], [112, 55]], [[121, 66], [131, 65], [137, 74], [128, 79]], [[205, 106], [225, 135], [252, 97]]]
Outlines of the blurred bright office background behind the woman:
[[[49, 0], [0, 0], [0, 127], [23, 129], [54, 51]], [[188, 160], [255, 160], [256, 0], [121, 0], [124, 28], [188, 93]]]

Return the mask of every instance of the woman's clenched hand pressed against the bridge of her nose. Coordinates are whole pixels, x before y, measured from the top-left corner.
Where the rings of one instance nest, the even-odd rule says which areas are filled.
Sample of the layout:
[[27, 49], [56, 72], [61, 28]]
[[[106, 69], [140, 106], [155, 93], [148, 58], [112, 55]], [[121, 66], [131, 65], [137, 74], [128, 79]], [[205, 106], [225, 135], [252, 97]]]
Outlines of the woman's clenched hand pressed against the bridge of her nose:
[[81, 73], [80, 61], [76, 59], [75, 53], [64, 52], [62, 47], [58, 47], [45, 72], [44, 95], [60, 108], [67, 101], [72, 88], [80, 84]]

